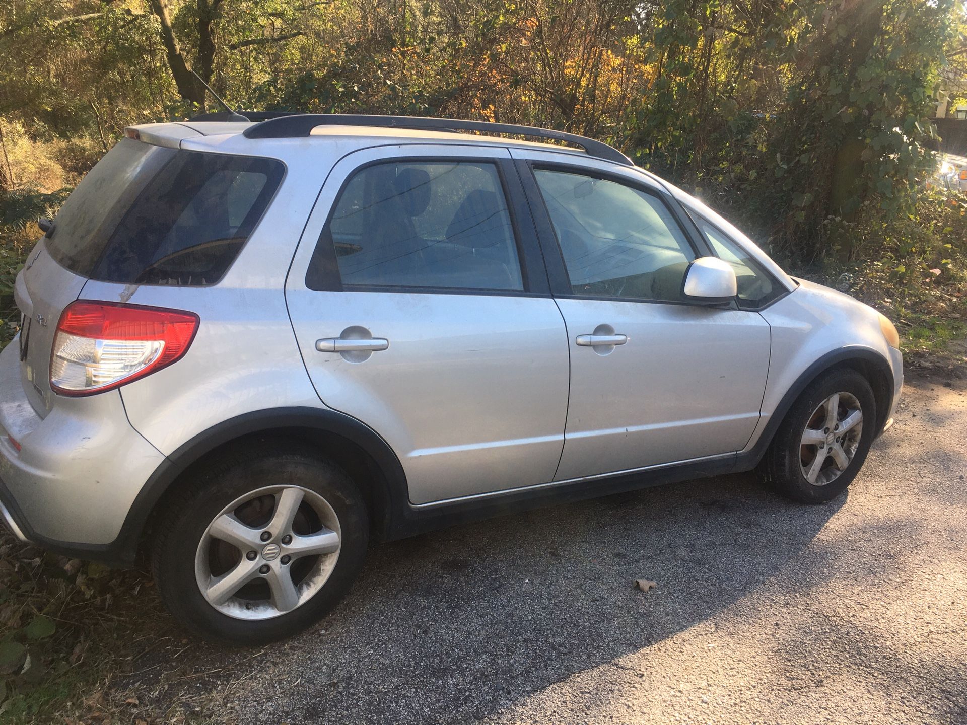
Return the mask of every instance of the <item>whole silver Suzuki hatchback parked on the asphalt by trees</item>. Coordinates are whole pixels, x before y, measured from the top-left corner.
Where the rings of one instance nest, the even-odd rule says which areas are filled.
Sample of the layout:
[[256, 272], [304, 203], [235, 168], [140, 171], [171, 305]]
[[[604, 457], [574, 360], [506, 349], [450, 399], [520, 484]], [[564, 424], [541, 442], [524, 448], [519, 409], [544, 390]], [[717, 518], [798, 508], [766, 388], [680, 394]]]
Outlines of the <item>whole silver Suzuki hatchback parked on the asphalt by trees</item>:
[[558, 131], [135, 126], [44, 228], [0, 354], [0, 513], [145, 552], [221, 641], [317, 621], [370, 536], [752, 469], [828, 501], [902, 386], [883, 315]]

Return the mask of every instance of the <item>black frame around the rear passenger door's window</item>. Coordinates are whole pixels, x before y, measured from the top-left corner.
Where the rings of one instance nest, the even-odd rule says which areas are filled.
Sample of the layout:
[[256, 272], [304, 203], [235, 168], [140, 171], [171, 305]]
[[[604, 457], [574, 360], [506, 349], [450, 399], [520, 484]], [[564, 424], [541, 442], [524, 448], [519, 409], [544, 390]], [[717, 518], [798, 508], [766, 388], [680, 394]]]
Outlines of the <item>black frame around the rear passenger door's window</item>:
[[[517, 263], [520, 265], [520, 279], [522, 290], [507, 289], [477, 289], [473, 287], [430, 287], [410, 285], [376, 285], [376, 284], [343, 284], [339, 275], [336, 256], [336, 245], [330, 231], [330, 223], [339, 200], [349, 183], [363, 170], [370, 166], [386, 163], [487, 163], [497, 171], [497, 178], [507, 204], [508, 216], [511, 217], [514, 246], [517, 250]], [[406, 154], [402, 156], [388, 156], [380, 159], [368, 160], [354, 167], [339, 185], [333, 203], [326, 215], [326, 220], [319, 232], [315, 248], [309, 257], [308, 269], [304, 283], [309, 290], [315, 292], [383, 292], [395, 294], [434, 294], [434, 295], [468, 295], [473, 297], [550, 297], [550, 285], [544, 269], [542, 250], [539, 244], [537, 229], [533, 226], [533, 217], [524, 201], [524, 190], [520, 179], [513, 168], [510, 157], [459, 155], [448, 156], [441, 154]], [[530, 234], [525, 232], [529, 227]]]

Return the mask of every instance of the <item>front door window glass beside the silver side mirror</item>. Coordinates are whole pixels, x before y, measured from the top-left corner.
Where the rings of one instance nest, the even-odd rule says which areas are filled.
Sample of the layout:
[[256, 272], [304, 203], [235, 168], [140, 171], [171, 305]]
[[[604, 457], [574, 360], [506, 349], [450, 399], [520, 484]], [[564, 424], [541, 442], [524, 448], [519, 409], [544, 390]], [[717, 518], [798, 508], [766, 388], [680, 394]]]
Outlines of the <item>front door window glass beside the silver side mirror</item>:
[[679, 302], [695, 253], [652, 194], [570, 171], [537, 169], [575, 295]]

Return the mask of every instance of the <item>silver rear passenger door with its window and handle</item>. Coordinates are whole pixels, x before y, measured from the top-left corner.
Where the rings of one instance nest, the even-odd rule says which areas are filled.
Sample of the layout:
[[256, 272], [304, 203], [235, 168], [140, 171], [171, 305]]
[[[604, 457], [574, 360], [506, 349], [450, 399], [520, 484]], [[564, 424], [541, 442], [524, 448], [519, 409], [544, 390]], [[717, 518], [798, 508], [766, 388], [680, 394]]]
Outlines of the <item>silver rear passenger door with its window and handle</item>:
[[320, 398], [386, 439], [413, 504], [553, 479], [568, 341], [507, 149], [340, 160], [286, 302]]

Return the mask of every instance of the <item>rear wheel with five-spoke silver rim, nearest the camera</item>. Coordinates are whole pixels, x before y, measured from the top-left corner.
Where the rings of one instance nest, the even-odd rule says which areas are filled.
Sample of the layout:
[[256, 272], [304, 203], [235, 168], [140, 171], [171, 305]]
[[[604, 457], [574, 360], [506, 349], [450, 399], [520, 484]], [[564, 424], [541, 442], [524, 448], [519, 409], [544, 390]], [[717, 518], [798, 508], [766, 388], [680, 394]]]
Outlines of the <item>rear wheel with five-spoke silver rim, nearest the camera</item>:
[[302, 449], [249, 449], [167, 502], [152, 546], [161, 599], [190, 632], [234, 645], [284, 639], [333, 609], [366, 554], [366, 504]]

